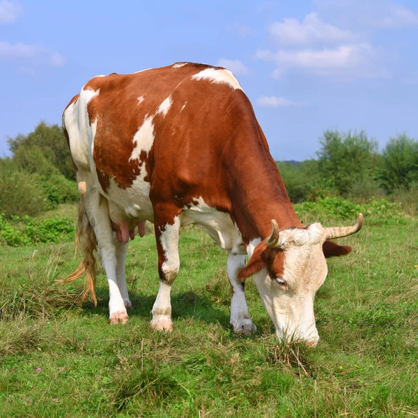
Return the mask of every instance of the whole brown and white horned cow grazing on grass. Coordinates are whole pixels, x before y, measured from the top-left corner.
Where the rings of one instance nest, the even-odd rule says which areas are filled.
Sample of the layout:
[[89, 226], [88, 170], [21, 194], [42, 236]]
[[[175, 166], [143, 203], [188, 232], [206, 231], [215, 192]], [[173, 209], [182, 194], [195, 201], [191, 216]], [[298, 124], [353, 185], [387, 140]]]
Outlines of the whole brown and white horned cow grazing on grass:
[[[327, 256], [348, 254], [328, 240], [354, 226], [304, 226], [249, 99], [224, 68], [176, 63], [129, 75], [94, 77], [63, 114], [81, 195], [77, 234], [84, 260], [64, 281], [86, 272], [93, 298], [98, 254], [109, 281], [109, 321], [132, 307], [125, 281], [129, 239], [155, 226], [160, 290], [151, 327], [171, 330], [171, 285], [178, 274], [180, 226], [203, 228], [228, 251], [235, 332], [256, 329], [244, 295], [254, 276], [279, 338], [315, 346], [314, 295]], [[249, 262], [245, 265], [245, 257]]]

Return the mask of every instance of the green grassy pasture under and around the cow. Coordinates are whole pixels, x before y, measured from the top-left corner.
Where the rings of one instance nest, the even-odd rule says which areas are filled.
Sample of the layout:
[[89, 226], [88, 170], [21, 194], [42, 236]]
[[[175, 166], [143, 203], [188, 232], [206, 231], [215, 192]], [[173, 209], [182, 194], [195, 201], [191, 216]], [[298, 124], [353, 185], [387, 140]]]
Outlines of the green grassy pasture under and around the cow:
[[[297, 206], [304, 222], [350, 224]], [[150, 229], [148, 230], [150, 231]], [[0, 417], [418, 417], [418, 222], [368, 216], [339, 242], [316, 296], [320, 342], [278, 343], [247, 280], [258, 330], [229, 327], [226, 253], [183, 230], [173, 285], [174, 330], [149, 329], [158, 290], [153, 233], [127, 256], [134, 309], [108, 325], [108, 288], [82, 303], [72, 243], [0, 247]]]

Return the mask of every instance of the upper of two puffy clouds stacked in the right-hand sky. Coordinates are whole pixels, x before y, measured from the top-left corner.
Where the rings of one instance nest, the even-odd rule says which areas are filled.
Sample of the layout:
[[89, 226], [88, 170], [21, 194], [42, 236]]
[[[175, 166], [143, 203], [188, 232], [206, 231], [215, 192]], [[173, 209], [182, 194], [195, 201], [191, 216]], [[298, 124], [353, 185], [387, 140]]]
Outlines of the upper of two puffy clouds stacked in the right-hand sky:
[[268, 32], [284, 45], [337, 43], [353, 39], [353, 33], [322, 22], [316, 13], [309, 13], [302, 22], [297, 19], [284, 19], [282, 23], [275, 22], [268, 27]]

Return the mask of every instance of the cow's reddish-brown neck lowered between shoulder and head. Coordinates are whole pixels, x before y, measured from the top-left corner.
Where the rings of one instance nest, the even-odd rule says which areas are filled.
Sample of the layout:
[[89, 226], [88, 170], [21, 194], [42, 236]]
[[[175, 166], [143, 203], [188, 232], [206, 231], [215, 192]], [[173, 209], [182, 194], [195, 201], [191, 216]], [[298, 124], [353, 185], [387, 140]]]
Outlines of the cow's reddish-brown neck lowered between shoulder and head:
[[[272, 219], [276, 219], [280, 230], [304, 226], [263, 141], [259, 138], [257, 147], [244, 147], [241, 155], [235, 155], [230, 171], [231, 217], [247, 243], [254, 238], [267, 238], [272, 231]], [[245, 152], [245, 148], [250, 149]]]

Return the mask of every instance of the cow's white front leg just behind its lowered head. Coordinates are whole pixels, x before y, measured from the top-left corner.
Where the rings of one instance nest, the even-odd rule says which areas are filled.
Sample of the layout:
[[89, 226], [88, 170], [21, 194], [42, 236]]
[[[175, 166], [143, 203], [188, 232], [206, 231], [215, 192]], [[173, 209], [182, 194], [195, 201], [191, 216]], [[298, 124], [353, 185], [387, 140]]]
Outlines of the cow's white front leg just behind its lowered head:
[[245, 268], [245, 256], [233, 255], [229, 251], [226, 267], [232, 292], [229, 323], [233, 326], [234, 332], [249, 334], [257, 328], [249, 317], [244, 294], [244, 282], [238, 281], [238, 272], [243, 268]]

